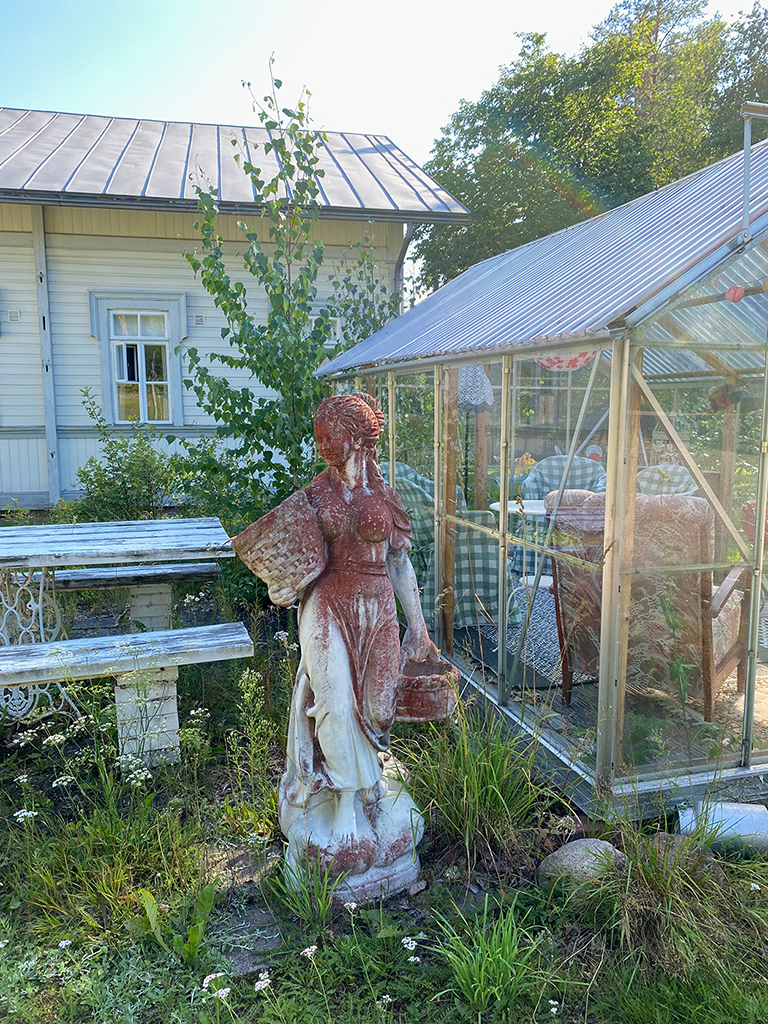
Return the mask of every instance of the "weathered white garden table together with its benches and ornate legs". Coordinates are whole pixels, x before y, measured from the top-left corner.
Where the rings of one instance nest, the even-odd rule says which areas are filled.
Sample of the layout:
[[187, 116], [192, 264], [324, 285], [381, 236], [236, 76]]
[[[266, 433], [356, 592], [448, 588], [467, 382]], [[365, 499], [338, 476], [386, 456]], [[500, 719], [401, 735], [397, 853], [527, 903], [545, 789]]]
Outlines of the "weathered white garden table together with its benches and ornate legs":
[[[242, 623], [171, 630], [171, 583], [214, 579], [233, 554], [212, 517], [0, 527], [0, 710], [22, 718], [45, 700], [72, 714], [63, 682], [113, 675], [121, 752], [175, 760], [178, 666], [247, 657], [253, 643]], [[60, 639], [56, 569], [63, 590], [126, 587], [145, 632]]]

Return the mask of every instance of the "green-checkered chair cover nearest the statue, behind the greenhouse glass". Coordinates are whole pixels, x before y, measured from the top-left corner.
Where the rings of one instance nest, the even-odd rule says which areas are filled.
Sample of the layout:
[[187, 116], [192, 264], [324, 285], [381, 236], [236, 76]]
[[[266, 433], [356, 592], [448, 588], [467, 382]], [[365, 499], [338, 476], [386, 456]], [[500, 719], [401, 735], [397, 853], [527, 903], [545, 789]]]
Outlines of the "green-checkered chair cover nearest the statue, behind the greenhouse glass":
[[[381, 464], [384, 478], [389, 465]], [[434, 484], [411, 466], [396, 465], [397, 492], [411, 518], [414, 548], [411, 560], [421, 590], [422, 608], [427, 625], [436, 626], [437, 609], [434, 587]], [[464, 495], [457, 487], [457, 515], [466, 519], [467, 526], [456, 527], [456, 561], [454, 589], [457, 629], [496, 623], [499, 609], [499, 544], [493, 537], [473, 529], [470, 523], [496, 529], [493, 512], [467, 509]], [[512, 580], [510, 578], [510, 593]], [[516, 604], [510, 607], [510, 625], [519, 625], [522, 612]]]

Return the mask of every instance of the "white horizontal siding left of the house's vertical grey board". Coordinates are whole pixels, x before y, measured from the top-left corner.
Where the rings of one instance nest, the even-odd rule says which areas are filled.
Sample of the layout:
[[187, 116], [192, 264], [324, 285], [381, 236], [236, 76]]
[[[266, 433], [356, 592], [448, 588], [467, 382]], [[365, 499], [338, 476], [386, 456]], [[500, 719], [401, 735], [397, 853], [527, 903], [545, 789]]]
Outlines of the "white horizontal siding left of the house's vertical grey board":
[[[18, 310], [10, 323], [8, 310]], [[32, 238], [29, 248], [0, 234], [0, 430], [41, 427], [43, 386]]]

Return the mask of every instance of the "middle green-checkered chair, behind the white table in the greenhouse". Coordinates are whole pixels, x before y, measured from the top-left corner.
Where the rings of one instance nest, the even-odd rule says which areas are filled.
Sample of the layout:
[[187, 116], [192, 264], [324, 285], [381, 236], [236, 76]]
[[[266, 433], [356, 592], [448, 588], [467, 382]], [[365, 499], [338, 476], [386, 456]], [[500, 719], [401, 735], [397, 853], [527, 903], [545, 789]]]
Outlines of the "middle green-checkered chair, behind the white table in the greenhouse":
[[[523, 501], [526, 498], [541, 501], [552, 490], [557, 490], [560, 480], [565, 472], [567, 456], [553, 455], [548, 459], [542, 459], [534, 466], [524, 481], [520, 485], [520, 497]], [[595, 493], [605, 490], [605, 470], [599, 462], [593, 459], [585, 459], [577, 456], [568, 473], [567, 486], [570, 489], [593, 490]], [[509, 531], [514, 537], [522, 539], [523, 521], [518, 515], [510, 515]], [[547, 521], [539, 517], [526, 517], [525, 538], [538, 544], [544, 544], [547, 538]], [[523, 549], [520, 545], [512, 546], [512, 570], [518, 575], [532, 575], [536, 572], [537, 553]], [[544, 572], [552, 574], [550, 559], [546, 559]]]

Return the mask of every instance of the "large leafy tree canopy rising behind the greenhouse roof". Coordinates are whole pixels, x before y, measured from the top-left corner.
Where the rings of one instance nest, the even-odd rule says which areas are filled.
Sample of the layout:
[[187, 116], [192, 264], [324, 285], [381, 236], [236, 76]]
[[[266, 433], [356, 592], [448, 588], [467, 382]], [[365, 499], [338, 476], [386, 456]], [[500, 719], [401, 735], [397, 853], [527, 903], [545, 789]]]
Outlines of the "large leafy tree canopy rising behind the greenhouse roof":
[[[423, 227], [433, 289], [478, 260], [628, 202], [738, 148], [743, 99], [768, 99], [768, 11], [732, 25], [705, 0], [623, 0], [574, 56], [544, 35], [475, 102], [463, 100], [426, 169], [472, 211]], [[755, 125], [755, 139], [763, 123]]]

